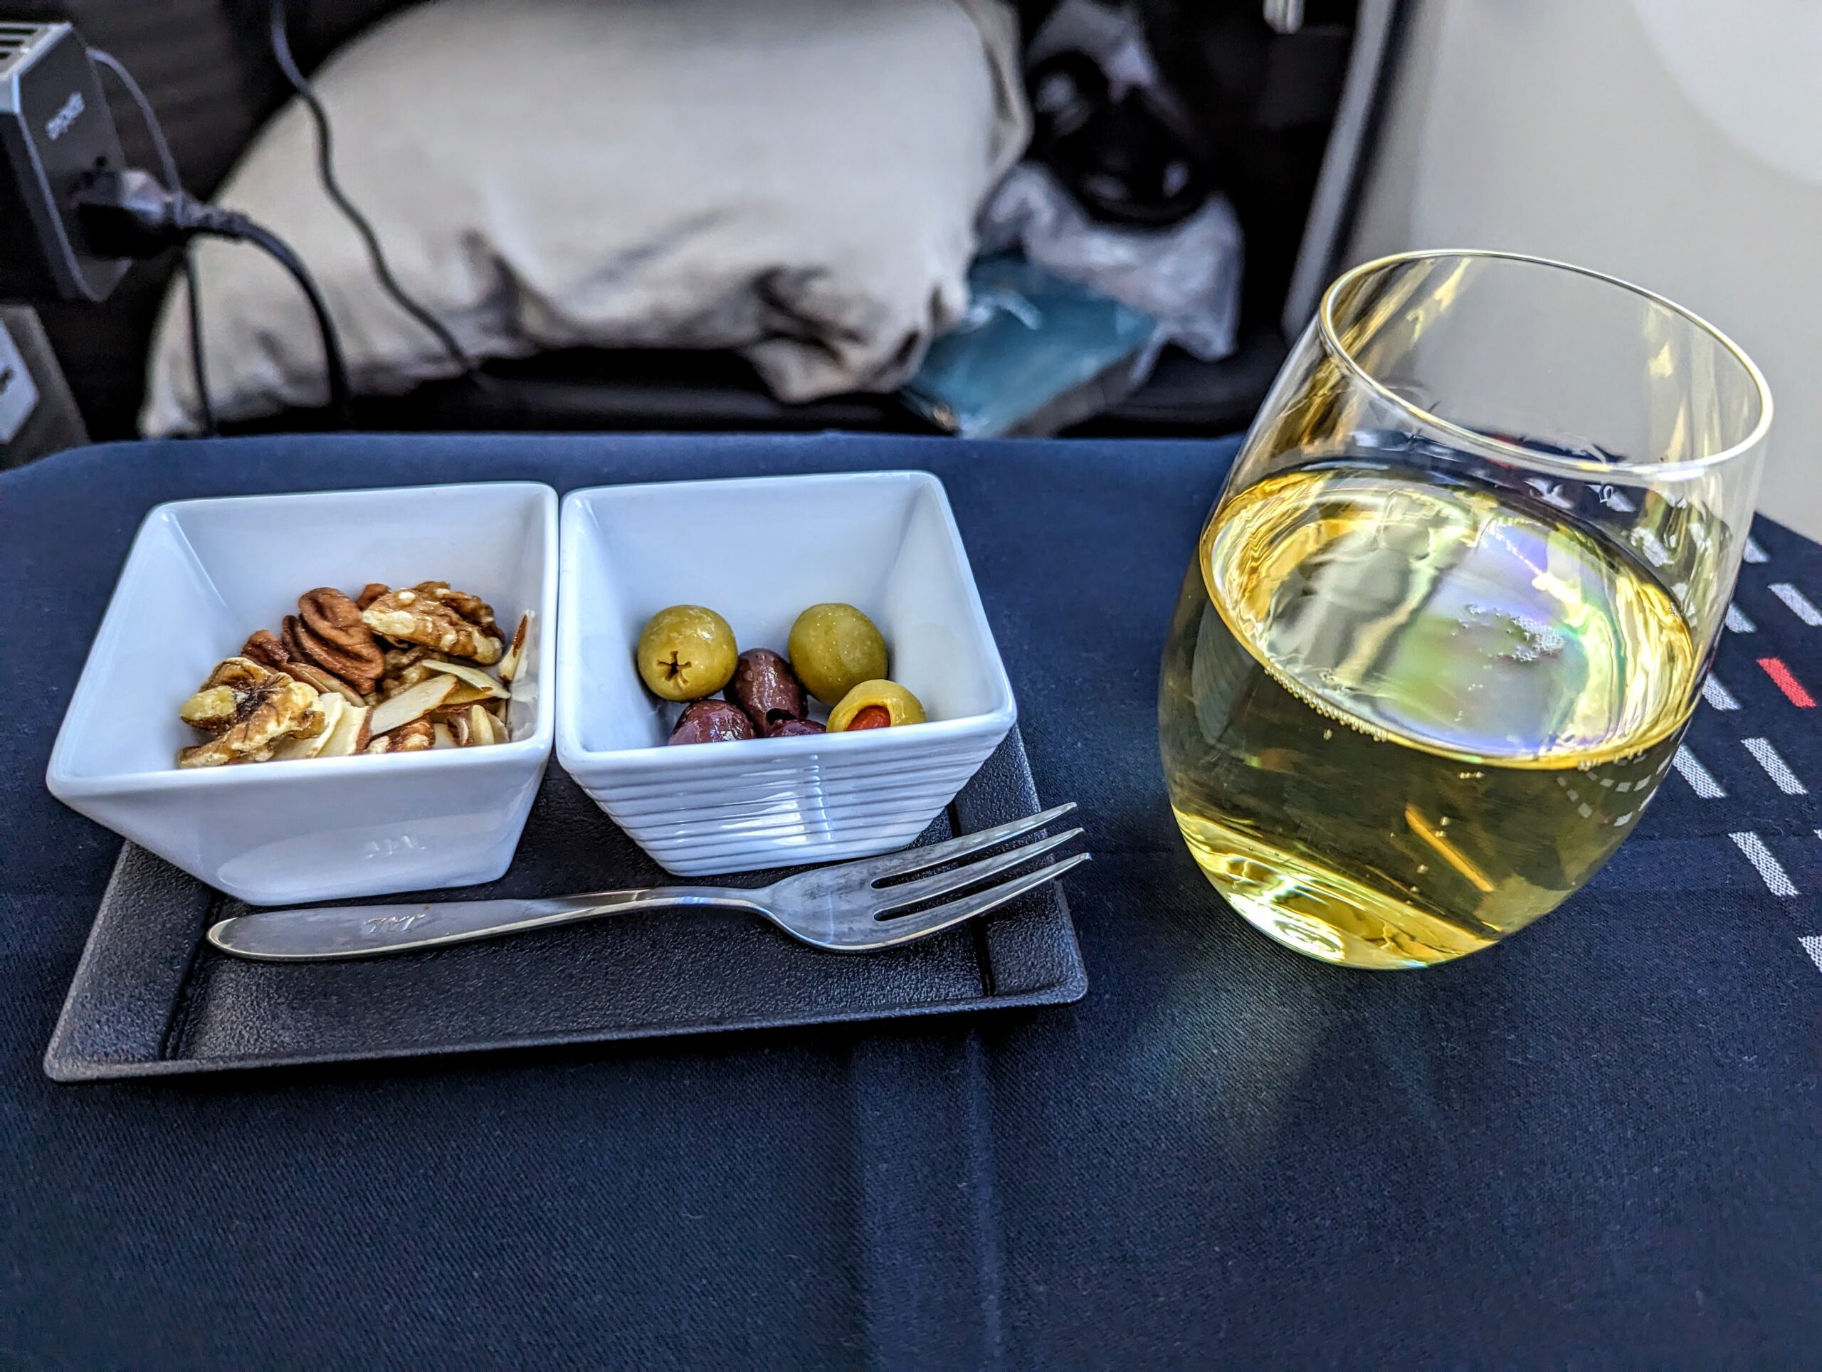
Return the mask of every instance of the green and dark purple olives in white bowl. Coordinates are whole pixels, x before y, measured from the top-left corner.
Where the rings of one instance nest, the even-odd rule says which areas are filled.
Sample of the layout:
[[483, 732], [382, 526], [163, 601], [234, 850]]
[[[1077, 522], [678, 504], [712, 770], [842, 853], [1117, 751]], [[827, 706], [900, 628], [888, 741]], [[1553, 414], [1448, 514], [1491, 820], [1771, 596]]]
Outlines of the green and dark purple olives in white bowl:
[[[924, 705], [887, 680], [885, 638], [853, 605], [811, 605], [791, 625], [789, 658], [740, 650], [734, 630], [705, 605], [670, 605], [640, 632], [634, 660], [654, 696], [691, 701], [672, 743], [849, 732], [924, 723]], [[712, 700], [716, 692], [725, 700]], [[829, 723], [811, 718], [811, 696]]]

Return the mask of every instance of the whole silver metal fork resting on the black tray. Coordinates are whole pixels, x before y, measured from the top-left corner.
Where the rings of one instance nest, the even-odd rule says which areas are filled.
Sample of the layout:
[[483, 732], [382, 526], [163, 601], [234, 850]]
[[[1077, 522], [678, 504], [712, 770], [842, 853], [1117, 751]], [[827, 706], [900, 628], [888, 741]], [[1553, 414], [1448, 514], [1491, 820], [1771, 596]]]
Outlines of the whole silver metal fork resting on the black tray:
[[907, 944], [962, 920], [986, 915], [1008, 900], [1022, 896], [1044, 882], [1053, 882], [1070, 867], [1088, 862], [1077, 853], [1060, 862], [1048, 862], [1035, 871], [1011, 876], [997, 886], [922, 909], [913, 915], [891, 916], [895, 909], [935, 900], [937, 896], [978, 886], [989, 876], [1018, 867], [1031, 858], [1062, 847], [1080, 834], [1068, 829], [1040, 838], [1035, 844], [995, 853], [980, 862], [969, 862], [953, 871], [920, 876], [898, 886], [880, 882], [926, 867], [937, 867], [969, 853], [995, 847], [1011, 838], [1042, 829], [1075, 809], [1057, 805], [1026, 820], [1002, 824], [995, 829], [951, 838], [946, 844], [909, 847], [884, 858], [840, 862], [831, 867], [785, 876], [773, 886], [756, 889], [725, 889], [714, 886], [654, 886], [643, 891], [596, 891], [583, 896], [554, 896], [548, 900], [450, 900], [419, 906], [322, 906], [317, 909], [273, 909], [259, 915], [235, 915], [210, 929], [210, 942], [224, 953], [266, 962], [315, 962], [321, 958], [359, 958], [374, 953], [403, 953], [414, 947], [463, 944], [470, 938], [494, 938], [525, 929], [548, 929], [554, 924], [592, 920], [599, 915], [621, 915], [634, 909], [661, 906], [727, 906], [763, 915], [780, 929], [805, 944], [836, 953], [865, 953], [875, 947]]

